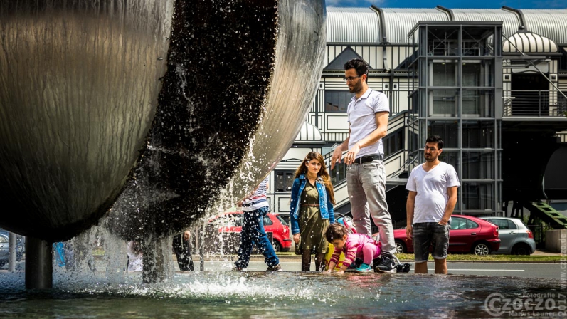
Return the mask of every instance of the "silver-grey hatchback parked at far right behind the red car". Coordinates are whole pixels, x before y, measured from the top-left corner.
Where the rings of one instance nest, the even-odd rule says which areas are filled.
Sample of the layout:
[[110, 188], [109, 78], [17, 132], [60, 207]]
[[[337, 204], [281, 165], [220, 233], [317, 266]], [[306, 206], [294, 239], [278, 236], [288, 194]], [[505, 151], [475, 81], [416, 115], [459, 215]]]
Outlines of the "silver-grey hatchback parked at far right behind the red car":
[[498, 226], [500, 249], [496, 253], [531, 255], [536, 251], [534, 233], [520, 219], [508, 217], [480, 218]]

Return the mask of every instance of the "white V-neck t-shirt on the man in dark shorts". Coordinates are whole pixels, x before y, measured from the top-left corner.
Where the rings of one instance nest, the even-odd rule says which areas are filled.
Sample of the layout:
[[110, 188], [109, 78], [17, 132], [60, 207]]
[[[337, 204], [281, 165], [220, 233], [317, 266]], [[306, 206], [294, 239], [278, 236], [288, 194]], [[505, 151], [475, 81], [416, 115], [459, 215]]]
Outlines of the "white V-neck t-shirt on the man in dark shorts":
[[460, 185], [455, 168], [445, 162], [440, 162], [429, 172], [425, 172], [423, 164], [412, 169], [406, 189], [418, 193], [413, 223], [438, 223], [449, 201], [447, 188]]

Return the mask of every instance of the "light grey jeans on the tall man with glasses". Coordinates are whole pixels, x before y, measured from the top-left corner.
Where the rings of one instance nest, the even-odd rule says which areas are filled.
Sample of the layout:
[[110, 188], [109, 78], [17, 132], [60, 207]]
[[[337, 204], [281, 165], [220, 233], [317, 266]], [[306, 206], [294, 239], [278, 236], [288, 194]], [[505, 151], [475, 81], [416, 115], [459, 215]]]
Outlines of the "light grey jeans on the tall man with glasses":
[[346, 189], [351, 201], [352, 219], [359, 234], [371, 236], [370, 217], [378, 226], [382, 253], [395, 253], [392, 217], [386, 203], [386, 169], [374, 160], [352, 164], [346, 171]]

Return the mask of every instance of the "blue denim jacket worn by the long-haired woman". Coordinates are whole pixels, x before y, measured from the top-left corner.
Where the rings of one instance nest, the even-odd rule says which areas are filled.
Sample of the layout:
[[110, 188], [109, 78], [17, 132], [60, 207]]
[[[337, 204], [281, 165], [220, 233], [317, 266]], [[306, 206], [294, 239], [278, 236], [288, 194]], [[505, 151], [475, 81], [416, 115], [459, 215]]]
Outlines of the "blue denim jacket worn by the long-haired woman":
[[[307, 184], [307, 179], [305, 175], [301, 174], [300, 177], [293, 181], [292, 186], [292, 202], [291, 202], [291, 212], [290, 212], [290, 223], [292, 224], [292, 234], [300, 233], [300, 223], [298, 221], [300, 214], [300, 202], [301, 193]], [[319, 192], [319, 211], [321, 211], [321, 217], [323, 219], [329, 219], [331, 224], [334, 224], [334, 211], [333, 203], [331, 199], [327, 196], [327, 188], [323, 184], [320, 178], [317, 178], [315, 182], [315, 187], [317, 187], [317, 192]]]

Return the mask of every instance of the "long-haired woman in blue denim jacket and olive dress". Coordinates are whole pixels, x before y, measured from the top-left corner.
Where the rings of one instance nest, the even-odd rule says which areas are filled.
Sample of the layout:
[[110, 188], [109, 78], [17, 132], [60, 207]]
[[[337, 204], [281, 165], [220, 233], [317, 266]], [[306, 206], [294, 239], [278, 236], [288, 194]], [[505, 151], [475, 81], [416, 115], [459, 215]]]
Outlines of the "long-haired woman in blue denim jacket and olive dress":
[[309, 152], [295, 171], [292, 186], [291, 214], [293, 241], [301, 257], [301, 270], [311, 268], [315, 253], [315, 269], [324, 271], [324, 256], [329, 249], [325, 229], [334, 224], [334, 192], [323, 157]]

